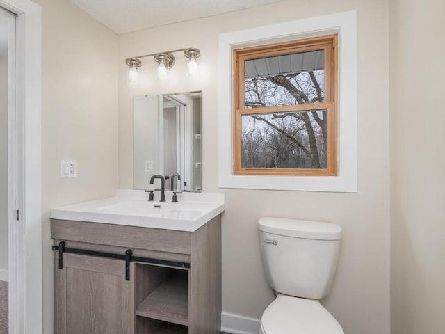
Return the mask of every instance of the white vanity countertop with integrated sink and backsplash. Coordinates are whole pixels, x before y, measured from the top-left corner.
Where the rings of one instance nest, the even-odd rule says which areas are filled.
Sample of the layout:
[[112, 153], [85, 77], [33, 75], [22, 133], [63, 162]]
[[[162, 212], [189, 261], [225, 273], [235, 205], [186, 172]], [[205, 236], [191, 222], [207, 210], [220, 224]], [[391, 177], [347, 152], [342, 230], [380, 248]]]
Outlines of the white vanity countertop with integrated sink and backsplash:
[[159, 202], [159, 193], [148, 201], [143, 190], [119, 189], [115, 197], [56, 207], [50, 218], [193, 232], [225, 210], [222, 193], [182, 193], [177, 203], [170, 191]]

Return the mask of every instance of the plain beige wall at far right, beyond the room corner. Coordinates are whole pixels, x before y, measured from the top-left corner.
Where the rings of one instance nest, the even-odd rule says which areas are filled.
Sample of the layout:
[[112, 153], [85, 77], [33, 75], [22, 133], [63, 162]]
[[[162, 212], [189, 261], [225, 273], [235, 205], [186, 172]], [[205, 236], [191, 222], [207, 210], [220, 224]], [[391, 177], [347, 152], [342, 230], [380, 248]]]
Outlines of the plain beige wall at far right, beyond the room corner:
[[445, 333], [445, 2], [391, 0], [391, 333]]

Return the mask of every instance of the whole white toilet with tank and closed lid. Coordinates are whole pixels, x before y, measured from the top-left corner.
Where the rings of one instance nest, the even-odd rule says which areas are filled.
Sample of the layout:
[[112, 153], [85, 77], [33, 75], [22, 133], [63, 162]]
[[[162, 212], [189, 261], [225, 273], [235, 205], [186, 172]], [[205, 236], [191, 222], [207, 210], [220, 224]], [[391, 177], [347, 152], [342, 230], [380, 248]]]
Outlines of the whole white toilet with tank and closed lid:
[[261, 317], [260, 334], [344, 334], [318, 301], [330, 292], [341, 227], [270, 217], [258, 225], [264, 271], [277, 294]]

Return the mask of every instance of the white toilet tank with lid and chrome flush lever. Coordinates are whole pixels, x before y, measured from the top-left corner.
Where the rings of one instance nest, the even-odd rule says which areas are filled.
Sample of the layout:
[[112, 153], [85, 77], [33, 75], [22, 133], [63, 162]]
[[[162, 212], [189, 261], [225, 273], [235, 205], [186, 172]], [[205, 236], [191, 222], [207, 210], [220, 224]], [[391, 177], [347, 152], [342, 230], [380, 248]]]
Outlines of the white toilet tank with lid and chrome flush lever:
[[260, 218], [261, 258], [268, 284], [276, 292], [322, 299], [330, 292], [341, 240], [334, 223]]

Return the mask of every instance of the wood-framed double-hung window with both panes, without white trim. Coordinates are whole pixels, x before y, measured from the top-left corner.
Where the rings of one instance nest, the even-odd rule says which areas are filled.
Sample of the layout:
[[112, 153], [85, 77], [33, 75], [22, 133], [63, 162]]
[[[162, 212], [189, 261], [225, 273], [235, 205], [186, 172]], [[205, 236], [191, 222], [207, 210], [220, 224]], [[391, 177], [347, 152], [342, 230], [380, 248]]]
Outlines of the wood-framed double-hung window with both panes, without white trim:
[[337, 35], [233, 60], [234, 175], [337, 175]]

